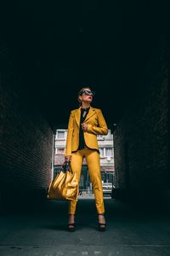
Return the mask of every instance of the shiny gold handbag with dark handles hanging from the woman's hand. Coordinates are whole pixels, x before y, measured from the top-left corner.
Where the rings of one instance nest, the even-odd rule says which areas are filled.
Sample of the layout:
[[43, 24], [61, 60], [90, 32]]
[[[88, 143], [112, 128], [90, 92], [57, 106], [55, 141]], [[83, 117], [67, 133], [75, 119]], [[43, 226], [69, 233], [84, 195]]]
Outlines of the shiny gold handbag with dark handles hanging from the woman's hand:
[[[67, 170], [67, 167], [69, 167], [69, 170]], [[71, 172], [70, 163], [65, 161], [62, 170], [49, 184], [47, 198], [77, 201], [77, 195], [78, 182], [76, 173]]]

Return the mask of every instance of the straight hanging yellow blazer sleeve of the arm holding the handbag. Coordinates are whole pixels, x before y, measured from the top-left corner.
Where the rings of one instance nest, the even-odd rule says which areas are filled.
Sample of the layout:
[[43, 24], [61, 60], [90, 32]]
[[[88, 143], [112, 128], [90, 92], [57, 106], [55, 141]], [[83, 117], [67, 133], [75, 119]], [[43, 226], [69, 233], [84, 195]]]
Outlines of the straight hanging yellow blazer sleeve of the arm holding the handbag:
[[69, 123], [68, 123], [67, 137], [66, 137], [65, 155], [71, 155], [72, 133], [73, 133], [73, 113], [71, 111]]

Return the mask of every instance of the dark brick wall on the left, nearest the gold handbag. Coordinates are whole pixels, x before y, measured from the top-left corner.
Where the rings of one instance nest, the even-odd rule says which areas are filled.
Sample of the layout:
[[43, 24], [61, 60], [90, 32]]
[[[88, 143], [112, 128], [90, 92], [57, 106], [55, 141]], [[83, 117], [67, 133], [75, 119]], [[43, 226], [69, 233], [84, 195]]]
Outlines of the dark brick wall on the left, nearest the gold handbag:
[[52, 177], [54, 139], [31, 98], [23, 99], [14, 90], [14, 70], [5, 59], [6, 51], [1, 49], [4, 66], [0, 71], [0, 199], [4, 205], [45, 195]]

